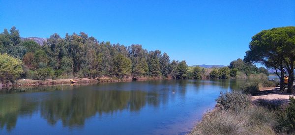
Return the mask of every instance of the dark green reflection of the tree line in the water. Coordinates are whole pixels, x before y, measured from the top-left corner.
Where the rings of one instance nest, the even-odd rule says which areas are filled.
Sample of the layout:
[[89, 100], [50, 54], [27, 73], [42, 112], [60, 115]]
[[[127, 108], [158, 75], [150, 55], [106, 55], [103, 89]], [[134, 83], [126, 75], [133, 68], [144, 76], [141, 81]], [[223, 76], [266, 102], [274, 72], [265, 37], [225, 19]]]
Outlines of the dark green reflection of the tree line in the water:
[[185, 99], [188, 89], [200, 91], [215, 85], [223, 89], [238, 89], [243, 83], [230, 80], [172, 80], [12, 88], [0, 92], [0, 128], [10, 131], [16, 126], [18, 117], [33, 114], [40, 114], [50, 125], [61, 121], [64, 127], [84, 126], [86, 119], [96, 114], [103, 116], [122, 110], [139, 111], [145, 106], [158, 108], [167, 104], [169, 99]]

